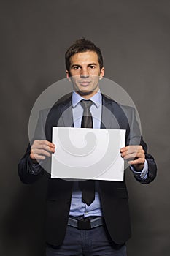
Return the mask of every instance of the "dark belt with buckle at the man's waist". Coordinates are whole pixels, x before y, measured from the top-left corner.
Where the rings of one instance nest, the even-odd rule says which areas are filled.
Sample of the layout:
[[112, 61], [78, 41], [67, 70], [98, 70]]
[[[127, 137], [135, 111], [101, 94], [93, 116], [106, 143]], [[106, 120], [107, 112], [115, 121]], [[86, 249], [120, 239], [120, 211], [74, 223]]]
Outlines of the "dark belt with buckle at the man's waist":
[[73, 219], [69, 217], [68, 225], [72, 227], [77, 227], [79, 230], [90, 230], [94, 227], [99, 227], [104, 224], [103, 217], [96, 217], [94, 219], [84, 218], [84, 219]]

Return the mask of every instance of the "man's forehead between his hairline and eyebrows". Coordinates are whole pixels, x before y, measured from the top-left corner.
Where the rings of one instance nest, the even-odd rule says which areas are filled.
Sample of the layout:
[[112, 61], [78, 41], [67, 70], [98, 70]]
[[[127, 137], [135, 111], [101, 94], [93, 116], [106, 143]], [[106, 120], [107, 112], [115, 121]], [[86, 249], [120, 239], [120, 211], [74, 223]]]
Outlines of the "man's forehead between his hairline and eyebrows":
[[98, 64], [98, 55], [93, 51], [86, 51], [83, 53], [76, 53], [70, 58], [71, 64]]

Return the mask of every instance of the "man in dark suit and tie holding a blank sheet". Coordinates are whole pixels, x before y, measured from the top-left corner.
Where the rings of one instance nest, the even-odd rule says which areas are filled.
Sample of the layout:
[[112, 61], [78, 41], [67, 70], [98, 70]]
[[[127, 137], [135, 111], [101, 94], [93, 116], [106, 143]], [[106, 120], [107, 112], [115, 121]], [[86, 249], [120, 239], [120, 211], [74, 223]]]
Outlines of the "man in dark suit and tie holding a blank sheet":
[[[72, 81], [74, 91], [71, 97], [53, 106], [46, 121], [41, 113], [35, 140], [18, 165], [21, 181], [33, 183], [45, 172], [41, 163], [50, 159], [57, 148], [51, 142], [52, 127], [56, 126], [125, 129], [121, 157], [131, 165], [140, 183], [148, 184], [155, 178], [156, 165], [139, 135], [134, 109], [101, 94], [98, 81], [103, 76], [101, 50], [86, 39], [74, 42], [66, 51], [66, 77]], [[109, 110], [107, 114], [104, 109]], [[69, 115], [64, 117], [66, 110]], [[45, 138], [39, 134], [45, 134]], [[125, 256], [125, 241], [130, 236], [125, 181], [77, 182], [49, 176], [47, 256]]]

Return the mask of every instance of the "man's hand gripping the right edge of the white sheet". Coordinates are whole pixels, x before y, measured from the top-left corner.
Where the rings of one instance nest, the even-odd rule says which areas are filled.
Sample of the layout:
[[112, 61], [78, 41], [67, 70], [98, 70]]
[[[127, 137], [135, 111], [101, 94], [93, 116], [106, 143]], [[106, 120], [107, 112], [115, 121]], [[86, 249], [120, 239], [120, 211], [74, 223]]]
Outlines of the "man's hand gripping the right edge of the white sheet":
[[144, 149], [140, 145], [126, 146], [120, 149], [121, 157], [128, 161], [129, 165], [134, 165], [136, 170], [144, 167]]

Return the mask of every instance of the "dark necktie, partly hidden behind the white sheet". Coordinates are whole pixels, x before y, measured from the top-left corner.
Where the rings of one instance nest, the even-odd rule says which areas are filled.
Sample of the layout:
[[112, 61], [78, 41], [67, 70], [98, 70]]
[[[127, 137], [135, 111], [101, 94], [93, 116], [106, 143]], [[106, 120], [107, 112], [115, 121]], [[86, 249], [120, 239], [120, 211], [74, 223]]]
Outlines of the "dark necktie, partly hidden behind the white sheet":
[[[93, 105], [93, 102], [91, 100], [82, 100], [80, 105], [83, 108], [81, 128], [93, 128], [93, 119], [90, 113], [90, 106]], [[80, 181], [79, 187], [82, 190], [82, 202], [90, 206], [95, 199], [94, 181]]]

